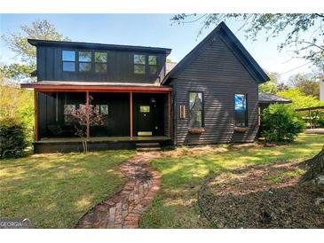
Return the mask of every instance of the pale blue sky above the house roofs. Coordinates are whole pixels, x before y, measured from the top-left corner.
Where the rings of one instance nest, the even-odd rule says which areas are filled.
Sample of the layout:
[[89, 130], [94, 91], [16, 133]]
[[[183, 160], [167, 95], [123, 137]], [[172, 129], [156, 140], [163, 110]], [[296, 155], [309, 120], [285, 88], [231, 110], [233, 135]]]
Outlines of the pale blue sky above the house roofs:
[[[1, 35], [16, 32], [21, 25], [46, 19], [50, 20], [60, 33], [73, 41], [166, 47], [172, 49], [170, 59], [178, 62], [209, 34], [212, 27], [197, 37], [200, 22], [171, 25], [172, 16], [172, 14], [1, 14], [0, 32]], [[291, 59], [288, 50], [281, 52], [277, 50], [277, 45], [283, 41], [284, 35], [266, 42], [265, 34], [262, 34], [258, 36], [257, 42], [252, 42], [245, 39], [242, 31], [238, 32], [240, 23], [232, 21], [226, 24], [260, 66], [267, 71], [282, 74], [282, 81], [286, 81], [291, 74], [311, 71], [310, 65], [304, 65], [306, 61]], [[2, 63], [19, 61], [19, 58], [14, 59], [14, 56], [1, 41], [0, 61]], [[296, 70], [288, 72], [295, 68]]]

